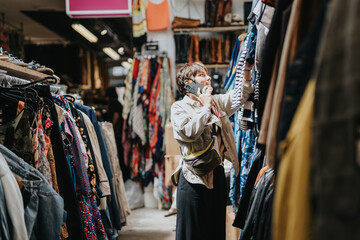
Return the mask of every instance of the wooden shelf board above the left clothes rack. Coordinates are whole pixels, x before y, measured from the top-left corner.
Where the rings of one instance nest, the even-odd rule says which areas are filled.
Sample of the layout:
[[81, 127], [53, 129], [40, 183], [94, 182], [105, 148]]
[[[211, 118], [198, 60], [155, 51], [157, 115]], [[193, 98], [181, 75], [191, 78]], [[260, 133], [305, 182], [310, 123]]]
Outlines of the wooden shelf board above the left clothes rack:
[[44, 77], [48, 77], [49, 75], [46, 75], [44, 73], [37, 72], [35, 70], [31, 70], [22, 66], [18, 66], [16, 64], [1, 61], [0, 60], [0, 69], [5, 70], [8, 75], [23, 78], [25, 80], [39, 80]]

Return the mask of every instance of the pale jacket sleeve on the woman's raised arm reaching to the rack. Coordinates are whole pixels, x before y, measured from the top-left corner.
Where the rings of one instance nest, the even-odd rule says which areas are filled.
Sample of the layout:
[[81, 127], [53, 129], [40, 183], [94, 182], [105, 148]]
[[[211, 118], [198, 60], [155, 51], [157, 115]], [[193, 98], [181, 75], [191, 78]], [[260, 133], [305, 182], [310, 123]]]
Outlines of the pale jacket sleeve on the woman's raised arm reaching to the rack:
[[244, 81], [242, 91], [243, 92], [242, 98], [240, 99], [240, 104], [236, 108], [231, 108], [235, 90], [230, 90], [225, 94], [214, 95], [213, 98], [216, 101], [218, 107], [222, 111], [226, 112], [226, 115], [230, 117], [248, 100], [250, 95], [255, 91], [255, 87], [252, 85], [251, 81]]

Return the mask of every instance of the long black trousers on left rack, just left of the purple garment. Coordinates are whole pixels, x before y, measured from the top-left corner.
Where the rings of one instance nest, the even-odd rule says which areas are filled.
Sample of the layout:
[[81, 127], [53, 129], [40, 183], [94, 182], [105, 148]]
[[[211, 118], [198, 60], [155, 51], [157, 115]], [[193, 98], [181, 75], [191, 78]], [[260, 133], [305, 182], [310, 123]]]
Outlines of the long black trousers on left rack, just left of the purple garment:
[[[35, 89], [40, 97], [52, 100], [49, 86], [36, 85]], [[51, 120], [53, 121], [53, 126], [50, 139], [54, 151], [56, 177], [60, 196], [64, 199], [65, 210], [67, 212], [66, 225], [69, 232], [69, 239], [84, 239], [85, 236], [83, 235], [81, 225], [79, 203], [76, 198], [74, 184], [70, 175], [69, 165], [66, 160], [55, 105], [51, 108]]]

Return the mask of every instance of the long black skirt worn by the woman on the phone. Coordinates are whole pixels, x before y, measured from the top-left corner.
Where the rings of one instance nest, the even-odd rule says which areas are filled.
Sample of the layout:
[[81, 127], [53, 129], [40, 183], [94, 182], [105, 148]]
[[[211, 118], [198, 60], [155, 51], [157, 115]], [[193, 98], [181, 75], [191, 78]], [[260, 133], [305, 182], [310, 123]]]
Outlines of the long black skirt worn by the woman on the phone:
[[180, 173], [176, 240], [225, 240], [226, 189], [223, 166], [214, 169], [214, 189], [191, 184]]

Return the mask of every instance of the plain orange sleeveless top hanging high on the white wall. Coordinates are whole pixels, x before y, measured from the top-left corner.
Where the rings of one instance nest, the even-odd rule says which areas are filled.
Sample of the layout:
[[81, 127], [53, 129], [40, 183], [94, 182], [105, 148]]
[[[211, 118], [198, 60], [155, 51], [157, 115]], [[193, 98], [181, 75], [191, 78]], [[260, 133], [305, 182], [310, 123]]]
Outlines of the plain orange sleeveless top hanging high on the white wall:
[[167, 29], [170, 22], [168, 0], [163, 0], [159, 4], [149, 0], [146, 9], [146, 18], [149, 31]]

